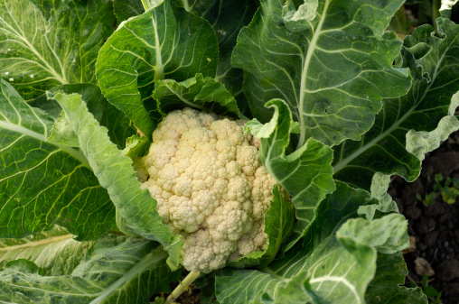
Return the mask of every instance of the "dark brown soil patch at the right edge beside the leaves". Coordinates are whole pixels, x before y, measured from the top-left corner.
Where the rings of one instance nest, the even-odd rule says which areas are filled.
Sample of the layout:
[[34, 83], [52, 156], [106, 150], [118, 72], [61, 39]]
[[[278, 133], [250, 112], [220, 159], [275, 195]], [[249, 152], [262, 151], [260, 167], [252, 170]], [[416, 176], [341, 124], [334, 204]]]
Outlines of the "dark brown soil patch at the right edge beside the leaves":
[[[390, 184], [389, 194], [400, 213], [407, 217], [408, 235], [416, 240], [411, 253], [404, 254], [408, 276], [406, 286], [421, 286], [423, 272], [429, 274], [428, 285], [442, 291], [443, 304], [459, 303], [459, 202], [448, 205], [434, 191], [435, 175], [459, 179], [459, 133], [452, 134], [423, 161], [420, 177], [412, 182], [397, 177]], [[436, 192], [434, 205], [426, 206], [417, 199]], [[411, 281], [411, 284], [410, 284]]]

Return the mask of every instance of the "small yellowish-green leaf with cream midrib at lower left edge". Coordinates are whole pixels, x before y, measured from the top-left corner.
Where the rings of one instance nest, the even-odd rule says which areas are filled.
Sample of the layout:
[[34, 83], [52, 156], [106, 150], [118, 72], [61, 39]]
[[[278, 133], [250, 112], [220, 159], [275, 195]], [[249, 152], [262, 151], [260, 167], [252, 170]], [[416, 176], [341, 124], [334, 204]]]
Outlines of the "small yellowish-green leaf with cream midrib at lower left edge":
[[26, 259], [42, 268], [44, 275], [70, 274], [91, 244], [75, 241], [60, 226], [22, 239], [0, 239], [0, 267], [12, 260]]

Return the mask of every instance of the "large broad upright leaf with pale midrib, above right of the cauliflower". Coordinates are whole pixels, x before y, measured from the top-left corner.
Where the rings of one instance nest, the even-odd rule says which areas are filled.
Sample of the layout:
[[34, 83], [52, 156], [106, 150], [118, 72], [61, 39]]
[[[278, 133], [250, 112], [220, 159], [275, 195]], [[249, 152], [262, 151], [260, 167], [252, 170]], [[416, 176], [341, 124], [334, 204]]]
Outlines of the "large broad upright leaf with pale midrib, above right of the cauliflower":
[[239, 33], [232, 63], [245, 70], [252, 114], [281, 98], [299, 122], [298, 147], [314, 136], [326, 144], [359, 140], [381, 99], [410, 88], [407, 69], [392, 66], [401, 41], [384, 32], [403, 0], [264, 0]]

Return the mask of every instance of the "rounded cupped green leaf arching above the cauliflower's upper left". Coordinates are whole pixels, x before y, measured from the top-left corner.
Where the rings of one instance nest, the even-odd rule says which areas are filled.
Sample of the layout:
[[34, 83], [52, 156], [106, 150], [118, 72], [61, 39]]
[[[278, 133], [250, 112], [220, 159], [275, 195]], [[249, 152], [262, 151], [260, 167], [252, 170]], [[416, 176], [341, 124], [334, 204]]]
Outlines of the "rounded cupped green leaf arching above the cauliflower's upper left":
[[217, 62], [218, 44], [211, 25], [164, 0], [118, 26], [99, 51], [96, 73], [108, 101], [151, 136], [155, 81], [183, 81], [197, 73], [214, 77]]

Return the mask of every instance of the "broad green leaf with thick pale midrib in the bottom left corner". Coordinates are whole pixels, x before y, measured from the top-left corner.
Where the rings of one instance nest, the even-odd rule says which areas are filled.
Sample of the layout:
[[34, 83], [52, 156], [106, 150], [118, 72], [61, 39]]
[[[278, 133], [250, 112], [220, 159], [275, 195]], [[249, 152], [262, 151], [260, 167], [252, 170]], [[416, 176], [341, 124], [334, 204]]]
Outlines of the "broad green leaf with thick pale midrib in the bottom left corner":
[[0, 271], [0, 301], [147, 304], [156, 292], [170, 291], [169, 281], [180, 278], [181, 272], [171, 272], [166, 258], [155, 242], [108, 235], [70, 275], [46, 276], [27, 260], [7, 263]]

